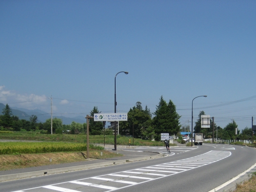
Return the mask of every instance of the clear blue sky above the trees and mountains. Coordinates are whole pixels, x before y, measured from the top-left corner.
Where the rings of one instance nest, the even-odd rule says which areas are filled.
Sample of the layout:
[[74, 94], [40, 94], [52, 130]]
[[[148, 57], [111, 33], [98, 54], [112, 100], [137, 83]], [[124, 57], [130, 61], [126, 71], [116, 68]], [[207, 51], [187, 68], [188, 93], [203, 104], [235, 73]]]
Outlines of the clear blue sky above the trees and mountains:
[[193, 102], [194, 122], [203, 110], [222, 128], [231, 119], [251, 127], [255, 8], [249, 0], [0, 1], [0, 102], [50, 112], [52, 95], [56, 115], [114, 112], [114, 77], [128, 71], [116, 77], [119, 112], [137, 101], [154, 112], [162, 95], [184, 125], [193, 98], [207, 95]]

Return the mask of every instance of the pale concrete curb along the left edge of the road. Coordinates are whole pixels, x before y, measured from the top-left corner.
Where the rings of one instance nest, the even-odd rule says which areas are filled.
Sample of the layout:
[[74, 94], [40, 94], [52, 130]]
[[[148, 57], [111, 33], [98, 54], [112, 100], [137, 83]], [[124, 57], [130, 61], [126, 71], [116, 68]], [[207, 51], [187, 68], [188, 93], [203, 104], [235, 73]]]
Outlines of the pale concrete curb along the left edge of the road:
[[163, 156], [164, 156], [164, 154], [160, 153], [159, 155], [154, 155], [154, 156], [137, 157], [137, 158], [132, 158], [132, 159], [123, 159], [123, 160], [116, 160], [116, 161], [113, 160], [113, 161], [102, 162], [102, 163], [93, 163], [93, 164], [87, 164], [87, 165], [63, 167], [63, 168], [57, 168], [57, 169], [33, 171], [33, 172], [26, 172], [26, 173], [8, 174], [8, 175], [0, 176], [0, 181], [43, 176], [43, 175], [54, 174], [54, 173], [62, 173], [62, 172], [68, 172], [68, 171], [85, 170], [85, 169], [90, 169], [90, 168], [95, 168], [95, 167], [103, 167], [103, 166], [110, 166], [110, 165], [136, 162], [136, 161], [141, 161], [141, 160], [155, 159], [155, 158], [160, 158], [160, 157], [163, 157]]

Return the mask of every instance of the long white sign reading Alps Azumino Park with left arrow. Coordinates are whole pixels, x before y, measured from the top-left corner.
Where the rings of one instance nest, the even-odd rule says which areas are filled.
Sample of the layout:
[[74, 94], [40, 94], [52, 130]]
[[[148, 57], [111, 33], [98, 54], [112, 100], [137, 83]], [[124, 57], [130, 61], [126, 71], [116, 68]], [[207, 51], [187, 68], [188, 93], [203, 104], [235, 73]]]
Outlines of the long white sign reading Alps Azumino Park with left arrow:
[[127, 121], [127, 113], [95, 113], [94, 121]]

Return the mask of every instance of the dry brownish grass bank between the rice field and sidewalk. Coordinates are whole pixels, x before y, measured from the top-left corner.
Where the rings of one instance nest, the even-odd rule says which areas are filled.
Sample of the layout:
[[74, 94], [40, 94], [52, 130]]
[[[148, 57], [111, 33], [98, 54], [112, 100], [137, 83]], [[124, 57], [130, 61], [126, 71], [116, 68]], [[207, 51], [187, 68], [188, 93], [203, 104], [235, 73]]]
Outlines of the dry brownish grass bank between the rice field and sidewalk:
[[[100, 153], [102, 152], [102, 156]], [[89, 158], [105, 159], [122, 156], [105, 150], [90, 150]], [[21, 169], [26, 167], [53, 165], [60, 163], [72, 163], [87, 161], [86, 151], [81, 152], [56, 152], [56, 153], [39, 153], [39, 154], [19, 154], [19, 155], [0, 155], [0, 171]], [[51, 159], [51, 162], [50, 162]]]

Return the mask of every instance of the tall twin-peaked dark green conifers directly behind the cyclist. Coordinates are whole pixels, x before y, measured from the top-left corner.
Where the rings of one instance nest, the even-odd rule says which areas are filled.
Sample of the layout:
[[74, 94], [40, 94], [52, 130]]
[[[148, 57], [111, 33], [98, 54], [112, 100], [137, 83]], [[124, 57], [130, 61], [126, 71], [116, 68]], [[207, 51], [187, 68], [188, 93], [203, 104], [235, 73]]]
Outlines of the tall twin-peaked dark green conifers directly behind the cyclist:
[[166, 101], [163, 100], [163, 96], [161, 96], [159, 105], [157, 105], [154, 115], [153, 126], [156, 133], [155, 140], [160, 140], [161, 133], [177, 135], [181, 128], [179, 122], [181, 116], [177, 114], [176, 106], [171, 100], [167, 104]]

